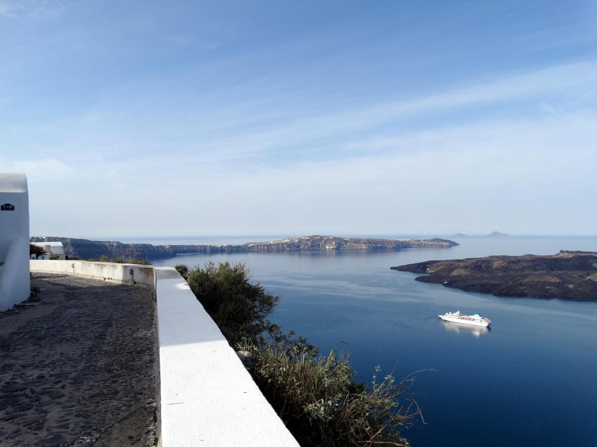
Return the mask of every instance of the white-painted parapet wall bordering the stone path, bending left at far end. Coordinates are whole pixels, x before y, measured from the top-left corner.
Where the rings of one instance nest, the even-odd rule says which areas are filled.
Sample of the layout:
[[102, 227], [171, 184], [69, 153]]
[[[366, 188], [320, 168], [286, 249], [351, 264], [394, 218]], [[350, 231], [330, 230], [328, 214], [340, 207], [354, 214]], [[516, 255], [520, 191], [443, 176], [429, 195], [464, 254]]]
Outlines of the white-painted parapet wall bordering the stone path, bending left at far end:
[[176, 269], [70, 260], [31, 260], [30, 265], [31, 271], [155, 290], [159, 445], [298, 446]]

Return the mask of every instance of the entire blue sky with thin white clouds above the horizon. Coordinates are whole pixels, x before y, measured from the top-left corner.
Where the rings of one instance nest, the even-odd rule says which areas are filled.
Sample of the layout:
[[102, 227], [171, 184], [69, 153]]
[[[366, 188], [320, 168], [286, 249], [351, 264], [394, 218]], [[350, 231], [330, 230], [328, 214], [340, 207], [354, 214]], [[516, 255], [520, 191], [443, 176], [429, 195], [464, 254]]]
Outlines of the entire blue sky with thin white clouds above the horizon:
[[0, 0], [31, 232], [595, 234], [597, 3]]

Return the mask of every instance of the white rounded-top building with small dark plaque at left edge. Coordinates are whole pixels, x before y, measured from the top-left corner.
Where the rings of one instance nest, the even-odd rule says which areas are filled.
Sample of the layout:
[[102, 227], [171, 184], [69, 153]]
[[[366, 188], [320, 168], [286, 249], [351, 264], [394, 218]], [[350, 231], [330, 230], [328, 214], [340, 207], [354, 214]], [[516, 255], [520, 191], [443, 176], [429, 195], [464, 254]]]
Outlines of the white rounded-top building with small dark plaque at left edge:
[[29, 294], [27, 178], [22, 172], [0, 172], [0, 311]]

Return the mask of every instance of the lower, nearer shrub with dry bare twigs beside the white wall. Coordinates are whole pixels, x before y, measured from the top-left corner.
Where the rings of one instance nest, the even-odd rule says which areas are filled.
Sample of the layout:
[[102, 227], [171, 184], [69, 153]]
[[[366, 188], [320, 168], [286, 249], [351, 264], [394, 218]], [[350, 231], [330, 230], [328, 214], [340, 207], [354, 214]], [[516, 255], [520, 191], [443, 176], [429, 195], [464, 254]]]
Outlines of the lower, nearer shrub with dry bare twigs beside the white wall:
[[[417, 420], [420, 410], [392, 374], [369, 386], [353, 380], [348, 356], [318, 356], [312, 347], [296, 344], [239, 345], [253, 354], [249, 365], [261, 392], [303, 446], [407, 446], [399, 429]], [[380, 367], [376, 367], [380, 371]]]

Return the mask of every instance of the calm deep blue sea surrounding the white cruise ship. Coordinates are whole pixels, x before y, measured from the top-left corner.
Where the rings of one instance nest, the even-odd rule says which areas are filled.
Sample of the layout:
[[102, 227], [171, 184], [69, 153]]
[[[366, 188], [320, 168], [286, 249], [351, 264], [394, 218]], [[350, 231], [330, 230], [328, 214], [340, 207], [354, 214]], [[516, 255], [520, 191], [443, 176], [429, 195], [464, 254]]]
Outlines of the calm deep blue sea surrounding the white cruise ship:
[[[461, 245], [451, 249], [193, 255], [153, 263], [246, 262], [254, 280], [281, 294], [272, 320], [322, 353], [348, 350], [361, 381], [377, 364], [396, 377], [433, 368], [417, 374], [411, 388], [426, 424], [403, 434], [416, 445], [597, 446], [597, 302], [498, 298], [390, 270], [430, 259], [597, 251], [597, 237], [454, 240]], [[437, 318], [456, 309], [488, 316], [491, 329]]]

